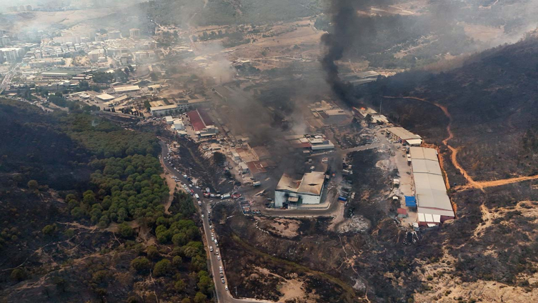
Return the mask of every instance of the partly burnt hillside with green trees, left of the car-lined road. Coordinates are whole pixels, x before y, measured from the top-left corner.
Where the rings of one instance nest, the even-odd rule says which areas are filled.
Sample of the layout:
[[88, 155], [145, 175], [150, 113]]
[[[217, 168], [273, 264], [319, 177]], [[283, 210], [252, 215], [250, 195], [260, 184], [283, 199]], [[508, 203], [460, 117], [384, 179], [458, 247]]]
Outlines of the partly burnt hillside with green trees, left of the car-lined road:
[[194, 201], [169, 197], [154, 136], [6, 99], [0, 118], [0, 302], [212, 296]]

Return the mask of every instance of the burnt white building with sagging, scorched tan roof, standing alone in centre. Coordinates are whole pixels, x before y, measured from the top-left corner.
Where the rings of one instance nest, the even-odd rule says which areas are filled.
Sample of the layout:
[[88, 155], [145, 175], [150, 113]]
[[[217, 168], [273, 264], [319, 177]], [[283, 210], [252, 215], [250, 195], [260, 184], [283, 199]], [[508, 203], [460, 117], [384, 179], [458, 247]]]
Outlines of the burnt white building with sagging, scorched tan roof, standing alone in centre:
[[284, 204], [320, 204], [322, 200], [325, 174], [309, 172], [297, 180], [283, 174], [274, 190], [274, 206]]

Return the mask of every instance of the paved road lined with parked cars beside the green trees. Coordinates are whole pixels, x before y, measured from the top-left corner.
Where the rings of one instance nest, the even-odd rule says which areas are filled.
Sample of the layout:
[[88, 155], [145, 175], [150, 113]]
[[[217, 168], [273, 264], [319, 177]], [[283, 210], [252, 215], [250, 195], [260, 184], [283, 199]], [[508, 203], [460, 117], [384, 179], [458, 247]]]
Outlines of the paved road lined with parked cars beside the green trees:
[[[179, 172], [177, 172], [169, 162], [165, 161], [165, 158], [168, 157], [168, 146], [163, 142], [159, 141], [159, 144], [161, 145], [161, 159], [163, 160], [162, 163], [164, 164], [164, 167], [168, 172], [173, 174], [174, 176], [178, 177], [181, 182], [184, 184], [189, 184], [189, 181], [187, 181]], [[192, 187], [194, 192], [199, 195], [199, 197], [204, 197], [203, 192], [200, 189], [196, 189], [196, 187]], [[206, 247], [207, 252], [209, 252], [209, 246], [213, 247], [213, 252], [209, 252], [209, 260], [211, 261], [211, 274], [213, 274], [213, 282], [215, 284], [215, 292], [216, 292], [216, 299], [218, 302], [221, 303], [244, 303], [244, 302], [253, 302], [253, 303], [259, 303], [259, 302], [270, 302], [270, 301], [261, 301], [256, 299], [235, 299], [234, 297], [231, 297], [231, 294], [229, 291], [225, 289], [226, 283], [223, 284], [221, 282], [221, 277], [219, 273], [219, 267], [223, 267], [224, 264], [222, 264], [222, 260], [219, 260], [219, 255], [216, 254], [216, 249], [220, 248], [216, 247], [216, 245], [211, 242], [211, 232], [213, 232], [210, 229], [210, 223], [208, 220], [208, 210], [209, 210], [209, 203], [212, 201], [212, 199], [201, 199], [201, 207], [199, 207], [199, 211], [201, 214], [204, 215], [204, 218], [201, 219], [203, 226], [204, 226], [204, 235], [206, 237], [208, 247]], [[215, 234], [216, 237], [216, 234]], [[219, 242], [219, 238], [216, 237], [217, 242]], [[226, 280], [226, 277], [224, 277]]]

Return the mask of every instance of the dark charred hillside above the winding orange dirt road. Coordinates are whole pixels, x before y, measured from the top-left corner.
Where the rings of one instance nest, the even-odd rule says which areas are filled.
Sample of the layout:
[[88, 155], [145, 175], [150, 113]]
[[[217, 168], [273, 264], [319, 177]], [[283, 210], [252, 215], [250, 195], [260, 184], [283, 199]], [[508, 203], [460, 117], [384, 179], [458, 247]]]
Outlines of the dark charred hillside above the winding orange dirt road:
[[474, 55], [452, 71], [399, 74], [369, 89], [417, 99], [378, 95], [372, 101], [383, 99], [386, 113], [437, 145], [448, 136], [449, 119], [433, 104], [446, 106], [453, 133], [448, 143], [475, 181], [536, 175], [537, 51], [538, 39], [531, 37]]

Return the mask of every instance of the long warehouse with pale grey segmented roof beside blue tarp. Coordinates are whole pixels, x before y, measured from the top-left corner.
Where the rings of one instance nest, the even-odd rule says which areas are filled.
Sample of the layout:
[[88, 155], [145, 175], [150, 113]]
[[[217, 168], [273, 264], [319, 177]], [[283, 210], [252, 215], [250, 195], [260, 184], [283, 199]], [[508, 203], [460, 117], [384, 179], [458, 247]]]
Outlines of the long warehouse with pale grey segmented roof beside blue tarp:
[[435, 149], [411, 147], [412, 177], [420, 226], [432, 227], [454, 219], [454, 209]]

